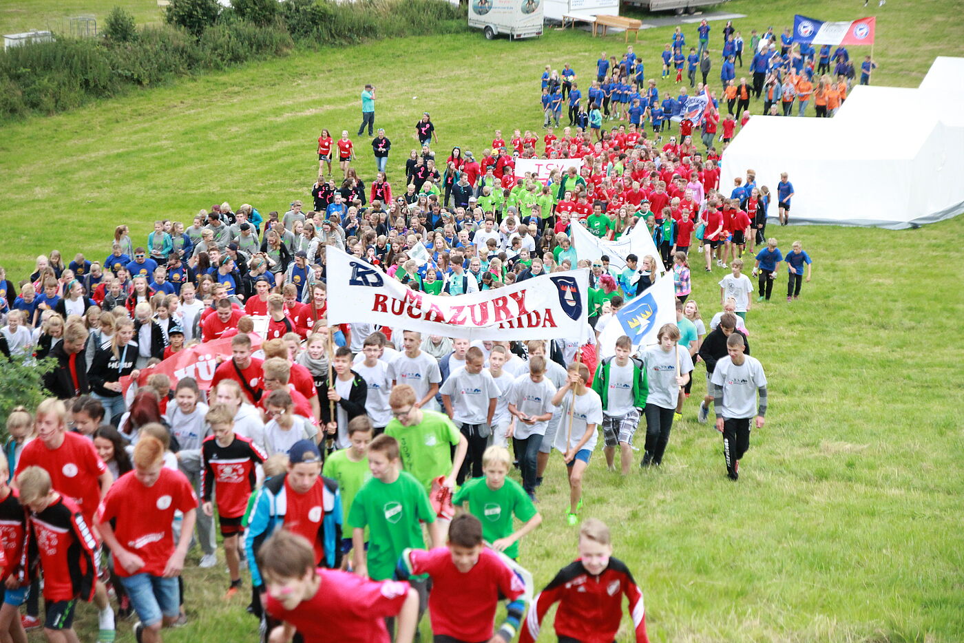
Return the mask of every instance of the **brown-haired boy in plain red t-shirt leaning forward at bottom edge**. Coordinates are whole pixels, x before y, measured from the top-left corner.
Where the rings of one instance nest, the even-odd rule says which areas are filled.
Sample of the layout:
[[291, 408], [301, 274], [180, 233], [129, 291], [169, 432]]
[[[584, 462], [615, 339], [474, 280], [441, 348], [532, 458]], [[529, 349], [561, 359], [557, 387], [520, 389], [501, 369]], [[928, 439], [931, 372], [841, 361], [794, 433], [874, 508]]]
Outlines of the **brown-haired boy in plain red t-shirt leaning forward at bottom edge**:
[[388, 617], [396, 617], [396, 643], [415, 637], [418, 594], [406, 582], [316, 568], [311, 544], [286, 530], [258, 549], [257, 565], [268, 614], [282, 622], [270, 641], [290, 641], [297, 630], [305, 643], [390, 643]]

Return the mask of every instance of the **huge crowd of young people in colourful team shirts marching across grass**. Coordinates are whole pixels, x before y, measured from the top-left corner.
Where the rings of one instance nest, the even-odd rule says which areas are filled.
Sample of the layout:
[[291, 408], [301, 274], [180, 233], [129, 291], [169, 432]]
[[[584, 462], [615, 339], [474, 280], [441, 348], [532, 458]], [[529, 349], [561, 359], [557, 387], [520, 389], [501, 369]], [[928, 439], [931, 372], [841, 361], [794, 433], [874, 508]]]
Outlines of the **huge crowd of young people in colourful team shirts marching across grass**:
[[[723, 57], [741, 65], [742, 39], [732, 25], [726, 30]], [[690, 65], [696, 87], [692, 66], [710, 55], [706, 21], [697, 35], [699, 52], [691, 48], [681, 63], [677, 30], [664, 78], [675, 67], [679, 81]], [[754, 32], [750, 50], [763, 53], [751, 65], [763, 56], [764, 76], [792, 78], [802, 115], [799, 84], [810, 82], [817, 61], [825, 67], [824, 52], [771, 37], [761, 47]], [[841, 54], [833, 60], [846, 62]], [[426, 608], [436, 641], [507, 643], [517, 632], [532, 641], [556, 602], [560, 640], [608, 641], [624, 595], [636, 640], [647, 640], [642, 595], [611, 557], [608, 528], [583, 517], [585, 471], [600, 434], [614, 475], [630, 474], [636, 451], [638, 468], [661, 467], [697, 368], [705, 368], [706, 389], [697, 388], [702, 399], [691, 411], [699, 422], [714, 416], [724, 469], [736, 481], [751, 429], [763, 427], [767, 410], [763, 366], [749, 354], [754, 291], [756, 303], [769, 301], [786, 273], [792, 302], [811, 279], [799, 241], [784, 254], [766, 236], [771, 193], [756, 173], [731, 188], [719, 184], [735, 103], [745, 123], [743, 101], [770, 85], [764, 77], [756, 87], [757, 68], [752, 90], [743, 82], [733, 94], [732, 77], [722, 77], [730, 114], [718, 152], [718, 107], [702, 125], [711, 136], [701, 151], [692, 121], [672, 131], [685, 88], [659, 102], [631, 47], [622, 61], [603, 54], [586, 101], [570, 66], [561, 76], [547, 67], [545, 134], [516, 129], [506, 141], [496, 130], [478, 160], [456, 146], [437, 165], [438, 133], [423, 114], [415, 123], [420, 148], [394, 194], [390, 142], [383, 129], [373, 134], [375, 89], [366, 86], [359, 135], [367, 126], [373, 136], [377, 173], [367, 189], [348, 131], [333, 141], [324, 129], [311, 209], [293, 201], [261, 215], [251, 204], [223, 202], [191, 222], [157, 221], [147, 234], [119, 225], [97, 249], [109, 249], [103, 260], [77, 253], [65, 263], [52, 251], [16, 285], [0, 268], [0, 351], [52, 362], [44, 376], [50, 398], [6, 420], [0, 640], [20, 643], [25, 628], [42, 624], [48, 640], [76, 641], [76, 603], [94, 601], [98, 640], [112, 641], [113, 595], [121, 614], [136, 612], [137, 640], [159, 641], [163, 627], [186, 621], [180, 572], [188, 550], [199, 547], [199, 565], [213, 567], [218, 531], [226, 599], [241, 592], [247, 569], [249, 611], [272, 643], [296, 631], [308, 643], [386, 641], [389, 632], [407, 642]], [[550, 121], [558, 124], [561, 100], [569, 101], [570, 124], [557, 130]], [[608, 131], [605, 118], [614, 121]], [[647, 136], [647, 122], [658, 138]], [[581, 166], [548, 180], [517, 175], [518, 160], [534, 157], [578, 158]], [[787, 225], [786, 174], [775, 192], [775, 214]], [[578, 255], [573, 226], [601, 241], [645, 227], [658, 254], [621, 257], [627, 267], [617, 271], [607, 255]], [[693, 245], [706, 272], [723, 271], [720, 310], [709, 323], [692, 297]], [[585, 331], [566, 340], [470, 342], [364, 320], [329, 327], [332, 247], [442, 296], [585, 268]], [[620, 336], [615, 354], [603, 357], [603, 329], [660, 279], [673, 281], [677, 322], [659, 328], [652, 346]], [[255, 329], [262, 341], [253, 340]], [[141, 377], [218, 339], [229, 339], [230, 357], [219, 360], [209, 389], [191, 377]], [[579, 525], [579, 559], [532, 599], [520, 545], [544, 521], [538, 493], [553, 450], [567, 471], [564, 522]], [[499, 597], [507, 616], [495, 629]]]

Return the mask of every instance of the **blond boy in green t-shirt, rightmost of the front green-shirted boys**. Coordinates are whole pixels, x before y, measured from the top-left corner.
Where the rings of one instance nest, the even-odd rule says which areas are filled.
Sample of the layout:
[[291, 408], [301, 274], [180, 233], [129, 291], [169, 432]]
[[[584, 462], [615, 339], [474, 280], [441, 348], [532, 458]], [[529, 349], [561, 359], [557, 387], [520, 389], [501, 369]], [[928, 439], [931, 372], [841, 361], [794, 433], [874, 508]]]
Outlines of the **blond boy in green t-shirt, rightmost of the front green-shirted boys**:
[[[522, 485], [508, 477], [512, 458], [504, 446], [493, 445], [482, 454], [485, 477], [464, 484], [452, 504], [461, 507], [469, 503], [469, 513], [482, 522], [482, 535], [492, 549], [502, 551], [512, 559], [519, 557], [519, 541], [542, 522], [532, 500]], [[516, 530], [513, 516], [522, 521]]]

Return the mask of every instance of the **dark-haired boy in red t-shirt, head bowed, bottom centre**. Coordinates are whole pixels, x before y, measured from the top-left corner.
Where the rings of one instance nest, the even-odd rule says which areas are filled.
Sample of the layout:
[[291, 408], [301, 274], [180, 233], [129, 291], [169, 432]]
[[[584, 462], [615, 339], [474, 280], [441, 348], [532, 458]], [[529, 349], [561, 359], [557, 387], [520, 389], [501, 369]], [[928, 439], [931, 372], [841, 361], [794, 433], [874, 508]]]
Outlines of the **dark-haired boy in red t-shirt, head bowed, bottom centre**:
[[[529, 592], [508, 559], [486, 549], [482, 523], [475, 516], [461, 514], [452, 520], [447, 547], [405, 549], [400, 567], [432, 578], [428, 606], [434, 636], [456, 641], [492, 641], [497, 636], [508, 643], [519, 630]], [[494, 632], [500, 598], [508, 601], [506, 618]]]

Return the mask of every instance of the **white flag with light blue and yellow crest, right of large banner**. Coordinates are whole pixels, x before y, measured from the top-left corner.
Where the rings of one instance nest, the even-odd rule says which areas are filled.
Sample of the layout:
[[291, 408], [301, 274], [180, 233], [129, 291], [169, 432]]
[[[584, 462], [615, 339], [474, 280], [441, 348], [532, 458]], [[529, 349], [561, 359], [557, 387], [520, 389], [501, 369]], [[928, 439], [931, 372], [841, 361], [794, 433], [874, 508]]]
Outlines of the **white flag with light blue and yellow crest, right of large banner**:
[[635, 353], [641, 346], [656, 343], [656, 334], [663, 324], [675, 323], [676, 292], [673, 279], [667, 275], [630, 299], [609, 319], [600, 333], [600, 360], [616, 354], [620, 335], [629, 336]]

